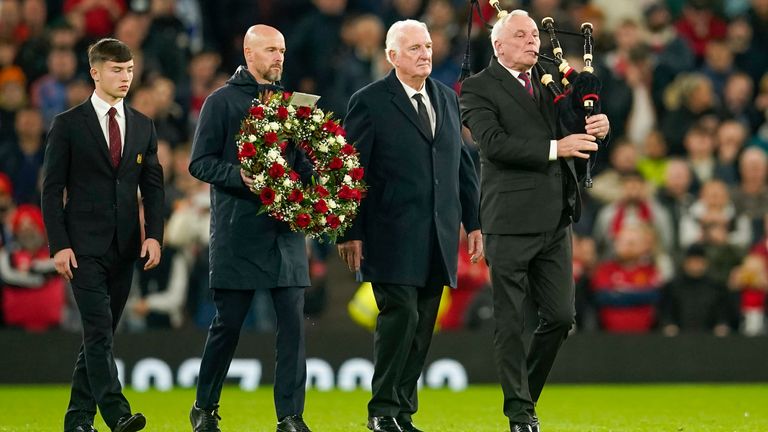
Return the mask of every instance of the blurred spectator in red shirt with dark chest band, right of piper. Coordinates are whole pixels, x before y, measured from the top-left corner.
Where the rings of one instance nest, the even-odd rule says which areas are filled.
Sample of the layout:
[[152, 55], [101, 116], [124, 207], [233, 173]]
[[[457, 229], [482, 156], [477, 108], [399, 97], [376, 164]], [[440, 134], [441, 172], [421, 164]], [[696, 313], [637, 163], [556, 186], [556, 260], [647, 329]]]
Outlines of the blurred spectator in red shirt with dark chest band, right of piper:
[[616, 238], [616, 257], [595, 269], [593, 299], [605, 331], [646, 333], [656, 323], [662, 280], [653, 244], [651, 228], [626, 226]]

